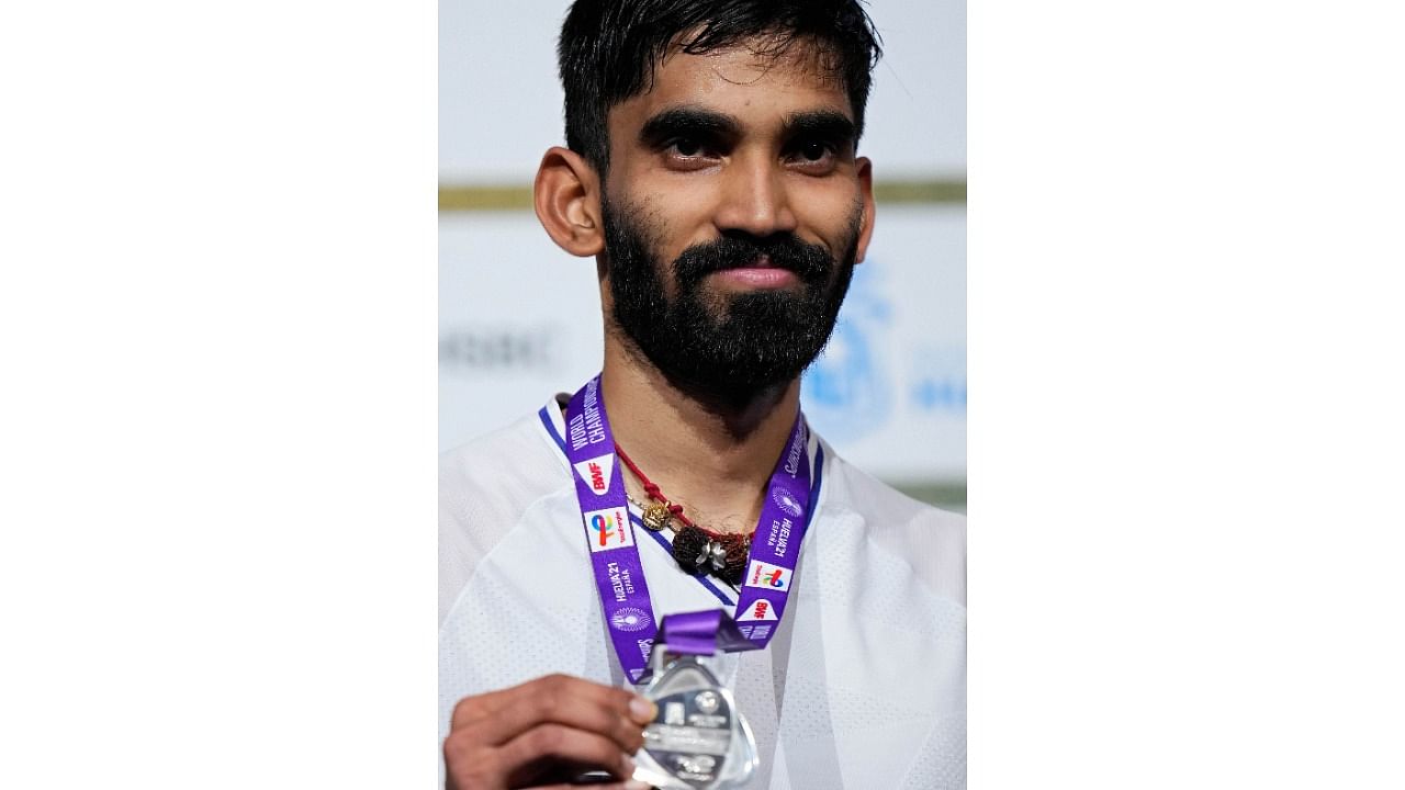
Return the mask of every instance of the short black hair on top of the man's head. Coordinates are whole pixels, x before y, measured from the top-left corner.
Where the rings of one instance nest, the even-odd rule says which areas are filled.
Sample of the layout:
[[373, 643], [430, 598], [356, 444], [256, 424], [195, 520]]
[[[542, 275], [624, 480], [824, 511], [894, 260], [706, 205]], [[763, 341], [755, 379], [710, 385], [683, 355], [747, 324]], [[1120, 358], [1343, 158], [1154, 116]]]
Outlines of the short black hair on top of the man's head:
[[[679, 37], [688, 34], [687, 41]], [[849, 93], [854, 131], [863, 134], [878, 31], [858, 0], [576, 0], [556, 46], [566, 90], [566, 146], [603, 176], [610, 163], [606, 117], [611, 107], [652, 87], [670, 45], [698, 55], [764, 38], [763, 55], [797, 41], [819, 45], [816, 60]]]

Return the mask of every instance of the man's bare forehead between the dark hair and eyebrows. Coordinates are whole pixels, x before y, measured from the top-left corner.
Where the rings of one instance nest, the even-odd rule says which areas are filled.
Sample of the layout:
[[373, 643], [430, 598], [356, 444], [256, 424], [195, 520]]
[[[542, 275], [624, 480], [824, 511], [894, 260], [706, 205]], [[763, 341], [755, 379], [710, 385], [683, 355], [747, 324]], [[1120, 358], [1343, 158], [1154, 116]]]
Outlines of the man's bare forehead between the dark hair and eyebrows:
[[743, 117], [833, 110], [853, 119], [849, 94], [828, 60], [822, 48], [802, 41], [781, 52], [764, 38], [702, 53], [676, 45], [655, 67], [649, 90], [613, 112], [643, 122], [659, 110], [688, 104]]

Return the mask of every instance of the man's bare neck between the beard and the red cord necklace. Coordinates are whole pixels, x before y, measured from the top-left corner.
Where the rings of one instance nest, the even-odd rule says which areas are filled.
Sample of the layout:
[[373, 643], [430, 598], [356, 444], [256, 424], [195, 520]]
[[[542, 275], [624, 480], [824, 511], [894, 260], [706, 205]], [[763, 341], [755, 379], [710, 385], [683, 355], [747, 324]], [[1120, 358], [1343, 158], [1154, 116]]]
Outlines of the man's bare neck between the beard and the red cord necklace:
[[[639, 354], [606, 346], [600, 387], [620, 447], [698, 526], [753, 530], [799, 409], [799, 381], [722, 401], [690, 394]], [[624, 475], [642, 502], [642, 484]]]

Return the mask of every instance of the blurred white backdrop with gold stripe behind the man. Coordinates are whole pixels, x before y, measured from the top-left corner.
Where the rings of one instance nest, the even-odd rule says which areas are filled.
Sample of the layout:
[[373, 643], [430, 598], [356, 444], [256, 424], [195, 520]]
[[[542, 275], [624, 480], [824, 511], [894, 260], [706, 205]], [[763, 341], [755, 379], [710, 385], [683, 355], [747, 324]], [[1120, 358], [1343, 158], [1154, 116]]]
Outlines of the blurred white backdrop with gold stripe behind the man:
[[[555, 39], [568, 1], [440, 3], [440, 450], [506, 425], [600, 367], [594, 261], [531, 211], [562, 145]], [[965, 505], [965, 6], [874, 0], [884, 39], [860, 153], [877, 225], [835, 336], [804, 378], [846, 458]]]

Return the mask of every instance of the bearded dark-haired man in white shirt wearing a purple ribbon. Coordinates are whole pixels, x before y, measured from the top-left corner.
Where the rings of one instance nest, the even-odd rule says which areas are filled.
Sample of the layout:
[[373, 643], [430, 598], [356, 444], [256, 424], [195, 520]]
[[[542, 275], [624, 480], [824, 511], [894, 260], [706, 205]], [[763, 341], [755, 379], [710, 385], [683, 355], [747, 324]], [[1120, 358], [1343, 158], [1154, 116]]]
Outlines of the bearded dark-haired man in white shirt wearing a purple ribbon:
[[642, 787], [658, 710], [632, 680], [665, 617], [717, 609], [760, 648], [711, 662], [754, 732], [750, 787], [964, 786], [964, 520], [799, 413], [873, 235], [877, 53], [853, 0], [568, 14], [568, 148], [535, 208], [596, 260], [604, 364], [443, 460], [447, 786]]

